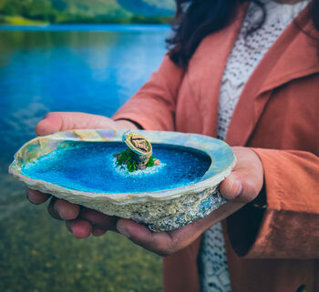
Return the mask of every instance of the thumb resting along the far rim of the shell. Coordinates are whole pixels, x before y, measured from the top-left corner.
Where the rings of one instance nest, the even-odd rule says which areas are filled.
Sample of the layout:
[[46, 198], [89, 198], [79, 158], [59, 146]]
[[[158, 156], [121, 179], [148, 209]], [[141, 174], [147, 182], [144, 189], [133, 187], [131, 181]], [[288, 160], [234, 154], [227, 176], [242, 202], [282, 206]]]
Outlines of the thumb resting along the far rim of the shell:
[[113, 128], [113, 121], [106, 116], [85, 113], [54, 112], [48, 113], [36, 125], [36, 134], [49, 135], [58, 131], [89, 128]]

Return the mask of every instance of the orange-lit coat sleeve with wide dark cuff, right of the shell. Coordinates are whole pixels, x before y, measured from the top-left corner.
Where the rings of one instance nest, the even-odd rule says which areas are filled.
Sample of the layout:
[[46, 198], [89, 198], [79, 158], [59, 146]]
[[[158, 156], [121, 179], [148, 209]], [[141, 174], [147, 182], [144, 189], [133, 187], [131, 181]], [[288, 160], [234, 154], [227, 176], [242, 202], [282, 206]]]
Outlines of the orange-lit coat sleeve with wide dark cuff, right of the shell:
[[253, 150], [264, 168], [267, 207], [248, 204], [228, 218], [232, 248], [247, 258], [319, 258], [319, 157]]

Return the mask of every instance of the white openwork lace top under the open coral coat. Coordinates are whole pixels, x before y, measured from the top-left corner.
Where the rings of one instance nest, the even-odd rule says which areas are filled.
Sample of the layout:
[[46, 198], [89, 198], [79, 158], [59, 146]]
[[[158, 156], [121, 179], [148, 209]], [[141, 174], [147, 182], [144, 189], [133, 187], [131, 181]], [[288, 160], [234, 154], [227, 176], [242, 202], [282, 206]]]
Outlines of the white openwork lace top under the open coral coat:
[[[309, 1], [304, 0], [294, 5], [283, 5], [271, 0], [262, 2], [267, 13], [265, 22], [261, 28], [247, 35], [247, 32], [262, 17], [261, 8], [252, 3], [245, 15], [241, 31], [222, 76], [218, 120], [218, 138], [222, 140], [226, 137], [233, 110], [253, 70], [278, 36]], [[200, 257], [201, 291], [230, 292], [231, 283], [221, 223], [204, 233]]]

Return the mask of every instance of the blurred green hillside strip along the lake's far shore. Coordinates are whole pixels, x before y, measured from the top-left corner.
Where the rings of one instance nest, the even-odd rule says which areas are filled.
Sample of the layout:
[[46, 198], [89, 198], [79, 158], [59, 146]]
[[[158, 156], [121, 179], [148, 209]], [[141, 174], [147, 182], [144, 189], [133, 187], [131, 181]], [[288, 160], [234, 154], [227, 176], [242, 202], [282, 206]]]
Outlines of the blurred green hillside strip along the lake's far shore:
[[166, 23], [174, 0], [0, 0], [0, 23]]

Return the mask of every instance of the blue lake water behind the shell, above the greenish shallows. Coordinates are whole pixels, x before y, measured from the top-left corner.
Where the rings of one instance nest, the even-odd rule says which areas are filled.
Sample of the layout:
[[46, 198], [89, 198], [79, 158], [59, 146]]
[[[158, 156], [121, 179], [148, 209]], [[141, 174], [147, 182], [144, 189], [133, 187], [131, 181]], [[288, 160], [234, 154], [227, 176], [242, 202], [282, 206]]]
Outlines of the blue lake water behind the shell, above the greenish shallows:
[[5, 168], [47, 112], [112, 116], [158, 68], [168, 35], [168, 25], [0, 25]]

